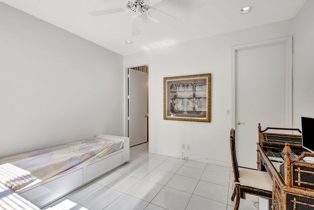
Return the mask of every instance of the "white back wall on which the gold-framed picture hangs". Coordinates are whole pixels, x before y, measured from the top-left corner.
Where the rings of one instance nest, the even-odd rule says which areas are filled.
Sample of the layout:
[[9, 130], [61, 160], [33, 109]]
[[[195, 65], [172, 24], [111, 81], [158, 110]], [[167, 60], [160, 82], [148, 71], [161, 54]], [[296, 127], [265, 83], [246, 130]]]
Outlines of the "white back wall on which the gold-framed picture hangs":
[[[228, 165], [231, 115], [226, 111], [231, 110], [231, 47], [292, 35], [291, 25], [292, 21], [285, 21], [125, 56], [125, 65], [144, 60], [151, 63], [150, 151], [178, 157], [184, 152], [202, 158], [200, 161]], [[163, 78], [201, 73], [212, 73], [212, 122], [163, 120]], [[183, 143], [191, 149], [181, 150]], [[248, 158], [256, 161], [256, 156]]]

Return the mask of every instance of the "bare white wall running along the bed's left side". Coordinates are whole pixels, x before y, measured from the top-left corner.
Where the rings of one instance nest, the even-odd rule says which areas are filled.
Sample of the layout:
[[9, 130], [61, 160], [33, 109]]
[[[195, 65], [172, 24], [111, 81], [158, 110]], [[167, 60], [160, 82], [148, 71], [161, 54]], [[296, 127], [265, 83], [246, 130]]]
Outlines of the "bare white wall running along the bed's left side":
[[123, 57], [0, 3], [0, 157], [123, 135]]

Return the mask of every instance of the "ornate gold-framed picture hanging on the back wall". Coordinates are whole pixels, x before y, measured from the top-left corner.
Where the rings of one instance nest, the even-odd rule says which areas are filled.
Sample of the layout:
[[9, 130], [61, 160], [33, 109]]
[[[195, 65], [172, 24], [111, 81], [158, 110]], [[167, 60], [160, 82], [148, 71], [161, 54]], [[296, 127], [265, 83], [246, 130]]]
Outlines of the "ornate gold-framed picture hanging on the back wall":
[[163, 119], [210, 122], [211, 74], [163, 78]]

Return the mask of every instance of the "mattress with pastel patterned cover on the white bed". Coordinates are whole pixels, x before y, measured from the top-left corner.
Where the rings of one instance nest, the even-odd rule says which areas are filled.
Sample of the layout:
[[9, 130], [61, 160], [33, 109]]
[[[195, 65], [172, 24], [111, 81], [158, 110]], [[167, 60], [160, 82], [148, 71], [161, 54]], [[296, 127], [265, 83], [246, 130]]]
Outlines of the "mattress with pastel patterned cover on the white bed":
[[122, 148], [123, 141], [94, 137], [0, 158], [0, 183], [18, 190]]

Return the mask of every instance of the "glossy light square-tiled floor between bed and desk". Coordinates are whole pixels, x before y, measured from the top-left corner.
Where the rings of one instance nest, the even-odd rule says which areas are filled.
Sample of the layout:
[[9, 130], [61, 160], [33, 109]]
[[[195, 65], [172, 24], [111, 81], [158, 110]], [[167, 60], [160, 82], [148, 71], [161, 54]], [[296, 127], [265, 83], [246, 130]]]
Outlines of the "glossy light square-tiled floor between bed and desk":
[[[130, 148], [130, 161], [44, 209], [233, 210], [231, 168]], [[239, 210], [257, 210], [247, 195]]]

